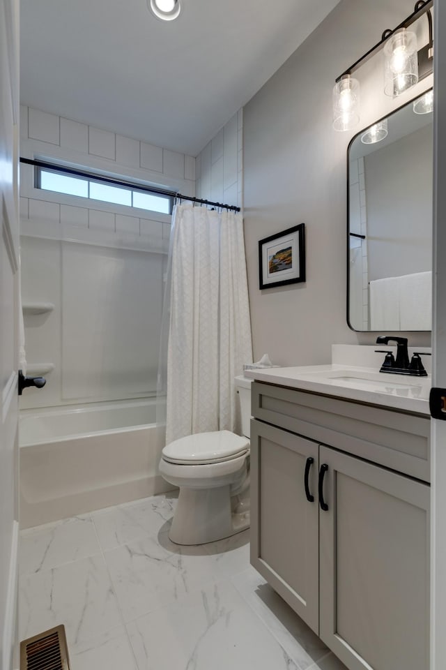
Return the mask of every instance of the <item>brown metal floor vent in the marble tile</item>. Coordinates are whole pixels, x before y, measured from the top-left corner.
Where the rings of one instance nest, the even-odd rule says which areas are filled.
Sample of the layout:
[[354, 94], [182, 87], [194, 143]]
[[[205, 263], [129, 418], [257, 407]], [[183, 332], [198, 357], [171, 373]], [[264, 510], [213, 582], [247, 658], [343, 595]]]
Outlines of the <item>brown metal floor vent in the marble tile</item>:
[[65, 627], [56, 626], [22, 641], [20, 670], [70, 670]]

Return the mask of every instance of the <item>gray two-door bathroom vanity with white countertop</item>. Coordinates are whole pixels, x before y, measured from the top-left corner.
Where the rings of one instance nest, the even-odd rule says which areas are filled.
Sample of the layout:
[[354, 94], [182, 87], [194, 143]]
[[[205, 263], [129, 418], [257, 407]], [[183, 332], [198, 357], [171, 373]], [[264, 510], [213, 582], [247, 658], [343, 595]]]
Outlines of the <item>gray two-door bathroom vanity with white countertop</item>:
[[349, 669], [427, 670], [431, 383], [378, 369], [250, 373], [251, 562]]

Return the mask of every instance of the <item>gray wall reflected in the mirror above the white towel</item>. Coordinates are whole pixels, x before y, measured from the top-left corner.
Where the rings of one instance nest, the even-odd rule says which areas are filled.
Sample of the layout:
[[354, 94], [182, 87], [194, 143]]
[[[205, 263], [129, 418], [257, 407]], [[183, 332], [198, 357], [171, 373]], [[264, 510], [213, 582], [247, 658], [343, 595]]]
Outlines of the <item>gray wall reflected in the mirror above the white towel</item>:
[[432, 126], [364, 158], [369, 280], [432, 269]]

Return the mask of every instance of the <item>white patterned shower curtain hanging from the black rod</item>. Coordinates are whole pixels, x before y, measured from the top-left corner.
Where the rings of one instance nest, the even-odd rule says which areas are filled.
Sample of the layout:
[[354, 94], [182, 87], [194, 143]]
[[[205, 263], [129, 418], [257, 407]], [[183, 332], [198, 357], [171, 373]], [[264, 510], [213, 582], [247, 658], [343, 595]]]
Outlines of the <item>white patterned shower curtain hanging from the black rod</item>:
[[176, 205], [171, 235], [167, 444], [237, 431], [233, 378], [252, 362], [241, 214]]

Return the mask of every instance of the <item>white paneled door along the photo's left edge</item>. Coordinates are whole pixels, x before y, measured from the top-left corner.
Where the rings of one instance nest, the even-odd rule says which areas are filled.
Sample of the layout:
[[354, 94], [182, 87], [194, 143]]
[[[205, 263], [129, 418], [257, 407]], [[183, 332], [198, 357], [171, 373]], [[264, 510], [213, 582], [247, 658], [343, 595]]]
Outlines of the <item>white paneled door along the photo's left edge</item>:
[[18, 2], [0, 0], [0, 669], [17, 667]]

